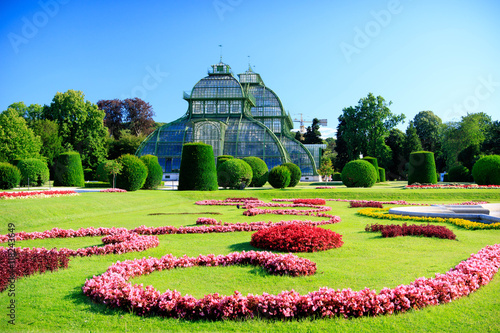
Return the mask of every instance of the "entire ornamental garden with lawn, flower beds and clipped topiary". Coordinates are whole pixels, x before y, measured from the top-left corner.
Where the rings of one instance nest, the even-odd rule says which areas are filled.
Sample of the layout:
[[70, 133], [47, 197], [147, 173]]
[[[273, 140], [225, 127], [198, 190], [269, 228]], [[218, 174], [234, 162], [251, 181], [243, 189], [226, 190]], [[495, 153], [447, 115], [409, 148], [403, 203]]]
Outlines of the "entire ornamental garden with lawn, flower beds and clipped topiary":
[[499, 156], [473, 183], [437, 182], [428, 152], [408, 182], [365, 158], [303, 183], [292, 163], [182, 154], [169, 191], [151, 155], [104, 163], [93, 189], [78, 153], [50, 189], [44, 165], [1, 164], [1, 330], [500, 329], [500, 223], [388, 212], [500, 202]]

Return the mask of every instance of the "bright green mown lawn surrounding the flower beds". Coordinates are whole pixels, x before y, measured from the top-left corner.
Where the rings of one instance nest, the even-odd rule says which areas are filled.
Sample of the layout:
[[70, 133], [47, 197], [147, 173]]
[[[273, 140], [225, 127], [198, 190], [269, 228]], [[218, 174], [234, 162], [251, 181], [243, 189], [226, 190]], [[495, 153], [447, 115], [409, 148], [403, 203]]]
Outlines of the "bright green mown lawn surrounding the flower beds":
[[[468, 200], [500, 202], [500, 190], [405, 190], [403, 183], [384, 183], [371, 189], [314, 190], [301, 184], [297, 189], [247, 189], [245, 191], [177, 192], [138, 191], [130, 193], [84, 193], [76, 197], [31, 200], [0, 200], [0, 233], [8, 223], [16, 231], [44, 231], [53, 227], [125, 227], [140, 225], [194, 225], [196, 218], [206, 216], [224, 222], [279, 221], [304, 219], [301, 216], [260, 215], [246, 217], [242, 210], [229, 206], [197, 206], [196, 200], [252, 196], [269, 201], [278, 197], [346, 198], [374, 200], [407, 200], [426, 203], [456, 203]], [[386, 223], [358, 216], [346, 202], [328, 202], [332, 213], [342, 222], [323, 226], [343, 235], [344, 246], [325, 252], [298, 254], [317, 263], [317, 273], [308, 277], [279, 277], [256, 267], [196, 267], [153, 273], [133, 279], [134, 283], [151, 284], [163, 292], [177, 289], [182, 294], [202, 297], [208, 293], [243, 294], [279, 293], [294, 289], [307, 293], [320, 287], [365, 287], [380, 290], [407, 284], [418, 277], [445, 273], [471, 253], [486, 245], [500, 242], [500, 230], [468, 231], [446, 224], [458, 241], [397, 237], [383, 239], [377, 233], [366, 233], [368, 223]], [[203, 212], [220, 212], [209, 215]], [[178, 215], [149, 215], [178, 213]], [[199, 213], [199, 214], [182, 214]], [[313, 218], [319, 220], [318, 218]], [[409, 313], [344, 320], [306, 319], [270, 321], [185, 321], [160, 317], [142, 318], [122, 310], [94, 304], [83, 295], [85, 279], [102, 274], [116, 261], [161, 257], [172, 253], [227, 254], [253, 250], [249, 232], [203, 235], [159, 236], [160, 246], [141, 253], [73, 258], [68, 269], [34, 275], [16, 282], [16, 325], [7, 323], [7, 293], [0, 294], [5, 314], [0, 331], [332, 331], [332, 332], [498, 332], [500, 331], [500, 276], [469, 297], [450, 304], [428, 307]], [[99, 237], [35, 240], [17, 242], [17, 246], [79, 248], [100, 244]]]

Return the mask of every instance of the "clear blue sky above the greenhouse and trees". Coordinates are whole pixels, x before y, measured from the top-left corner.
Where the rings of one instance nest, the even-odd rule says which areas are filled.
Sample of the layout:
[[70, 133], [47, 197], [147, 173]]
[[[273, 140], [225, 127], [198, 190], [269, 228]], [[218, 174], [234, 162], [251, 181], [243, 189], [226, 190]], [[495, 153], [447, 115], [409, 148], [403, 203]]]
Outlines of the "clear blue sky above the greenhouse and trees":
[[170, 122], [223, 45], [234, 74], [250, 59], [292, 117], [328, 119], [324, 137], [369, 92], [406, 115], [403, 130], [422, 110], [498, 120], [499, 17], [497, 0], [2, 1], [0, 110], [74, 89], [140, 97]]

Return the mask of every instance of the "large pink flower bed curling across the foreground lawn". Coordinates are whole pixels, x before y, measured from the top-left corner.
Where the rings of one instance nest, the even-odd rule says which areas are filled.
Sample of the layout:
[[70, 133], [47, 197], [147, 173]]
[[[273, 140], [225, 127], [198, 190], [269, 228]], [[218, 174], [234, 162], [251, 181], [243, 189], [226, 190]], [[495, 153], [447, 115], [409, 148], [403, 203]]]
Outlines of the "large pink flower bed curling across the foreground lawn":
[[[262, 257], [259, 257], [259, 253]], [[198, 258], [175, 258], [167, 255], [161, 259], [143, 258], [117, 262], [104, 274], [87, 280], [83, 292], [95, 302], [125, 311], [131, 310], [139, 315], [191, 320], [244, 319], [255, 316], [273, 319], [351, 318], [395, 314], [448, 303], [488, 284], [500, 267], [500, 244], [483, 248], [445, 274], [436, 274], [429, 279], [418, 278], [408, 285], [384, 288], [379, 293], [368, 288], [361, 291], [320, 288], [306, 295], [291, 290], [278, 295], [264, 293], [243, 296], [235, 291], [230, 296], [216, 293], [196, 299], [190, 295], [181, 296], [175, 290], [167, 290], [162, 294], [152, 286], [143, 287], [142, 284], [132, 285], [128, 282], [130, 278], [142, 274], [195, 265], [253, 264], [263, 266], [271, 274], [276, 272], [277, 267], [284, 265], [286, 268], [280, 270], [279, 274], [291, 275], [296, 272], [302, 275], [313, 274], [316, 268], [314, 263], [306, 259], [299, 262], [300, 258], [290, 254], [276, 255], [267, 252], [236, 252], [228, 256], [209, 255]]]

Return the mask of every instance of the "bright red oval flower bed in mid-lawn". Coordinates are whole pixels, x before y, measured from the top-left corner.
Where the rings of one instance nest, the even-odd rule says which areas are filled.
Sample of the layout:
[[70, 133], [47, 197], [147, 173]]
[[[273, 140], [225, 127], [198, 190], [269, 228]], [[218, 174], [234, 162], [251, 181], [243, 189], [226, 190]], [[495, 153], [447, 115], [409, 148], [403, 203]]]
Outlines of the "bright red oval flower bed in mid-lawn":
[[341, 247], [342, 235], [308, 225], [291, 224], [260, 230], [252, 235], [250, 245], [283, 252], [317, 252]]

